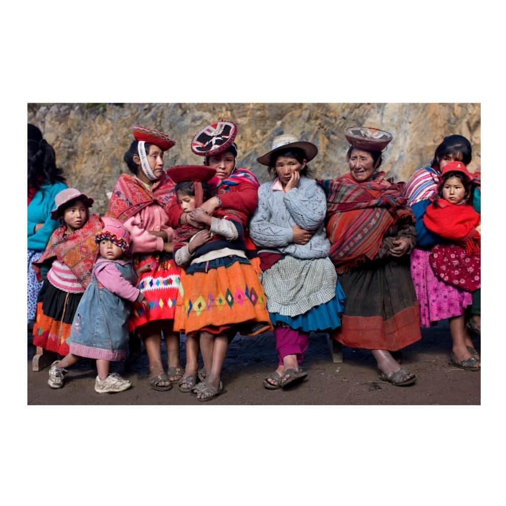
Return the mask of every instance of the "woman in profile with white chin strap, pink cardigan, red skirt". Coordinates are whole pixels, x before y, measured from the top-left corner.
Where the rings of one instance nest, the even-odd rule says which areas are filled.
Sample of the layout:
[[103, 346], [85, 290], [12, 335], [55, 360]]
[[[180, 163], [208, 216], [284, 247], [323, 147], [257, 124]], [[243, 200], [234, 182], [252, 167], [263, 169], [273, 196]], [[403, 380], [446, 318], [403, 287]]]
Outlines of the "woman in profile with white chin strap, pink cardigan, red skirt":
[[[149, 359], [151, 388], [166, 391], [183, 375], [179, 358], [179, 332], [174, 312], [180, 269], [172, 251], [175, 232], [168, 213], [176, 204], [174, 182], [163, 171], [163, 153], [175, 142], [162, 132], [134, 125], [134, 138], [124, 161], [132, 174], [122, 174], [114, 187], [107, 215], [123, 222], [129, 231], [134, 267], [151, 270], [137, 283], [147, 299], [134, 304], [130, 330], [143, 339]], [[161, 332], [167, 348], [167, 373], [161, 360]]]

